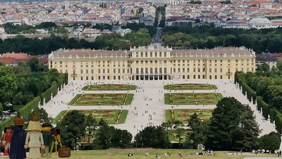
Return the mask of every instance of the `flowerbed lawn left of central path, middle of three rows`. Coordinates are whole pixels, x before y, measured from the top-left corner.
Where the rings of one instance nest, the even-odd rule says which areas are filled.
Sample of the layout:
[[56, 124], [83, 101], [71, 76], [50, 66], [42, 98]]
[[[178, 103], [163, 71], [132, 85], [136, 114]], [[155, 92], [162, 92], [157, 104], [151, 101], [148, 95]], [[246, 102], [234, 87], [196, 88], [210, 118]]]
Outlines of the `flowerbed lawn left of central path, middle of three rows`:
[[132, 100], [133, 94], [128, 93], [78, 94], [68, 105], [130, 105]]

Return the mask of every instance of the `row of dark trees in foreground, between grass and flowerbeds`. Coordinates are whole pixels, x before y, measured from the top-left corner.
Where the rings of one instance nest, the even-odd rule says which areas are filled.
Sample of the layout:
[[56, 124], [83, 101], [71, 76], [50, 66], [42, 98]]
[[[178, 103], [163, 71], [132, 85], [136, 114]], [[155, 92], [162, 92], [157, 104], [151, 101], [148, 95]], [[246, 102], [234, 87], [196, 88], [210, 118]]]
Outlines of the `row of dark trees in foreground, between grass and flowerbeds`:
[[[176, 133], [179, 140], [177, 148], [187, 148], [185, 145], [192, 144], [193, 148], [204, 145], [206, 149], [214, 151], [276, 150], [281, 142], [280, 134], [274, 132], [258, 138], [260, 130], [252, 110], [235, 98], [219, 101], [212, 117], [206, 122], [200, 121], [195, 113], [190, 115], [188, 125], [176, 120], [164, 122], [160, 126], [147, 126], [134, 136], [134, 142], [130, 132], [115, 129], [103, 119], [98, 121], [91, 114], [85, 116], [77, 110], [66, 114], [58, 125], [62, 130], [63, 143], [71, 148], [76, 148], [78, 141], [85, 141], [87, 137], [87, 143], [81, 147], [83, 150], [135, 146], [176, 148], [169, 140], [171, 132]], [[184, 143], [181, 142], [183, 134], [186, 134]]]

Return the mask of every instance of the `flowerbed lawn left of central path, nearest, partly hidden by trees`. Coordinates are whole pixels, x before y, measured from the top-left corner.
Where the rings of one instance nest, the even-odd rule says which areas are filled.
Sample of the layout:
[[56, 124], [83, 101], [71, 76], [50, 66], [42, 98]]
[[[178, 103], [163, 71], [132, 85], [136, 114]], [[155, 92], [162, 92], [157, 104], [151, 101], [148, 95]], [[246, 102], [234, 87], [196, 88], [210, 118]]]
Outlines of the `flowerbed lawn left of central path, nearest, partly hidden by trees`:
[[[123, 124], [125, 122], [126, 116], [128, 115], [128, 110], [78, 110], [80, 113], [86, 116], [92, 114], [97, 121], [104, 119], [108, 124]], [[118, 120], [118, 114], [121, 112], [121, 117]], [[63, 114], [66, 114], [66, 110], [61, 111], [53, 120], [52, 124], [57, 124], [59, 119], [63, 119]], [[61, 121], [61, 120], [60, 120]]]

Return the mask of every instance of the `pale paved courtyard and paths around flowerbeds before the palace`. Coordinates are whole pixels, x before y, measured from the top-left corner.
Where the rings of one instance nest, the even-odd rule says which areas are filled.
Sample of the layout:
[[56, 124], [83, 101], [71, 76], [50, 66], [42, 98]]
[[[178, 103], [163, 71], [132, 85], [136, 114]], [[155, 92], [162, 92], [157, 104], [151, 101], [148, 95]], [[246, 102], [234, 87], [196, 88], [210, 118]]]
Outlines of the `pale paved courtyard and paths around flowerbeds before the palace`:
[[[132, 84], [137, 86], [137, 90], [82, 90], [89, 84]], [[164, 85], [174, 83], [209, 83], [217, 86], [218, 90], [194, 90], [195, 93], [221, 93], [223, 97], [235, 97], [243, 104], [250, 105], [255, 112], [259, 129], [262, 129], [260, 136], [269, 134], [271, 131], [276, 131], [274, 124], [267, 122], [262, 114], [256, 109], [247, 98], [241, 93], [239, 88], [236, 88], [233, 81], [229, 80], [176, 80], [176, 81], [71, 81], [63, 90], [44, 107], [51, 117], [56, 117], [61, 110], [128, 110], [128, 116], [124, 124], [113, 125], [119, 129], [130, 131], [133, 136], [138, 131], [149, 125], [159, 125], [165, 121], [165, 110], [168, 109], [214, 109], [216, 105], [164, 105], [164, 93], [169, 93], [169, 90], [164, 90]], [[133, 102], [131, 105], [123, 106], [68, 106], [75, 95], [79, 93], [134, 93]], [[193, 90], [171, 90], [171, 93], [192, 93]]]

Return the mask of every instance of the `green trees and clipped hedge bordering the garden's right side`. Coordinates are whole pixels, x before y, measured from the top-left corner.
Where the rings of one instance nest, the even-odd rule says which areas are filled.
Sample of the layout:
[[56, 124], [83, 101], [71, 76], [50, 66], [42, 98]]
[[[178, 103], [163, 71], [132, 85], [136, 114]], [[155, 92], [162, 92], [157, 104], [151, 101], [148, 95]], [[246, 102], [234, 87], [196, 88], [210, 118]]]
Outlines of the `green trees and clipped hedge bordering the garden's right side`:
[[256, 73], [235, 74], [235, 83], [238, 83], [249, 100], [257, 103], [257, 110], [262, 111], [266, 119], [276, 125], [276, 130], [282, 132], [282, 63], [269, 69], [268, 64], [258, 66]]

